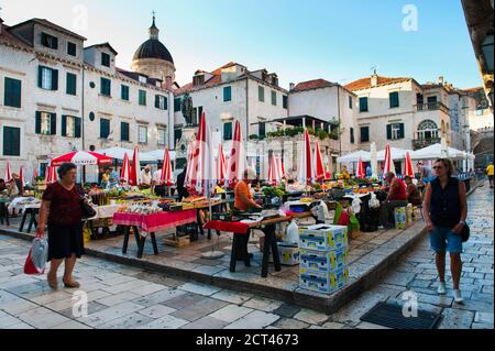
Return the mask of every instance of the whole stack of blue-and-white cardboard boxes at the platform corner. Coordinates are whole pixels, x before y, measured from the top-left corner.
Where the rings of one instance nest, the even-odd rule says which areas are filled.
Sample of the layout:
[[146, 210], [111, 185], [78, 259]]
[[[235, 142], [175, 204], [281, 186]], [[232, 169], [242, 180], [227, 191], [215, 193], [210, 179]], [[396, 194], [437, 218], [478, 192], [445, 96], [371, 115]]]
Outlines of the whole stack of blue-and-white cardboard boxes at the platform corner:
[[349, 276], [348, 227], [317, 224], [299, 229], [299, 285], [332, 294]]

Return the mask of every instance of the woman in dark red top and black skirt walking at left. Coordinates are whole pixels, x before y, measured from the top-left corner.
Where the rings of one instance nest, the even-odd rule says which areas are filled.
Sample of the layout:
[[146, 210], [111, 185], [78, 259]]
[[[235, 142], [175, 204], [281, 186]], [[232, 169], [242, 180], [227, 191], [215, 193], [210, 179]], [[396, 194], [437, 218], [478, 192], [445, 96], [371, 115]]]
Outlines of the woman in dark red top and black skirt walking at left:
[[77, 167], [65, 163], [57, 169], [59, 180], [51, 184], [43, 193], [40, 209], [37, 233], [44, 234], [48, 227], [48, 285], [56, 289], [57, 270], [65, 261], [63, 283], [66, 287], [77, 288], [73, 277], [76, 260], [85, 253], [81, 221], [81, 194], [76, 187]]

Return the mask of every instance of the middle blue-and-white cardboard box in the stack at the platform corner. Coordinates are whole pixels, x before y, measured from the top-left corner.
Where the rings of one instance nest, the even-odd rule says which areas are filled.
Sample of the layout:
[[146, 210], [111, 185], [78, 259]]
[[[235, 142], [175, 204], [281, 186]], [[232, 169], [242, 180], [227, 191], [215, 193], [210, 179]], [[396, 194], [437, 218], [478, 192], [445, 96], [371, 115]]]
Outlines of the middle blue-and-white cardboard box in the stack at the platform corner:
[[300, 249], [300, 273], [328, 273], [343, 268], [348, 263], [348, 248], [331, 251]]

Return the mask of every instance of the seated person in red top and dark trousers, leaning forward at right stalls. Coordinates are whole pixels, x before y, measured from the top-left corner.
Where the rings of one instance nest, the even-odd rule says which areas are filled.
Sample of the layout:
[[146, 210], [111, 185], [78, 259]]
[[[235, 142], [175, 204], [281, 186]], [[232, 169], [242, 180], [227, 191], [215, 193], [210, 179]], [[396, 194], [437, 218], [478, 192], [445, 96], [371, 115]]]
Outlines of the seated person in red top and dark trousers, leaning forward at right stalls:
[[380, 223], [385, 229], [392, 229], [395, 224], [389, 222], [389, 218], [393, 216], [395, 208], [407, 206], [406, 185], [392, 172], [385, 173], [384, 180], [389, 187], [387, 197], [380, 207]]

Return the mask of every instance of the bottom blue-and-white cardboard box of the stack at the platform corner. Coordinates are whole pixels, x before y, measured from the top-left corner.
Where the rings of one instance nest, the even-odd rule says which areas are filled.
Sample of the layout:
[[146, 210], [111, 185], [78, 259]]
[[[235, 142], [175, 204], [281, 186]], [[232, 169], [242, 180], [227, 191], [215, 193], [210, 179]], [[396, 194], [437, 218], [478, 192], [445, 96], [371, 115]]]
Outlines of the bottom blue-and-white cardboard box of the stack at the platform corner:
[[299, 286], [321, 294], [332, 294], [345, 286], [349, 278], [349, 270], [321, 273], [321, 274], [300, 274]]

